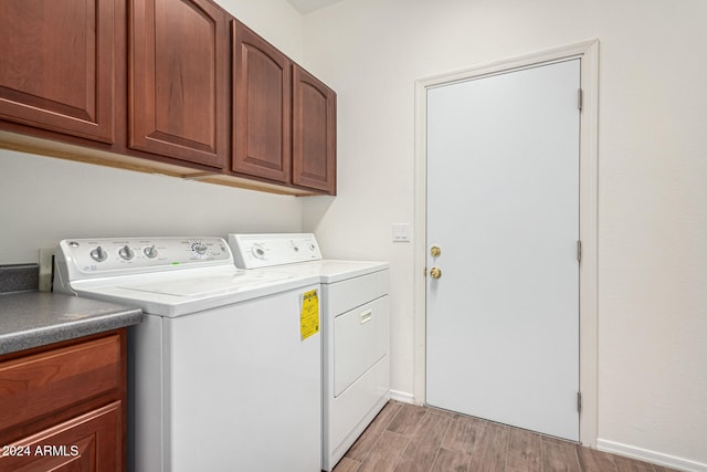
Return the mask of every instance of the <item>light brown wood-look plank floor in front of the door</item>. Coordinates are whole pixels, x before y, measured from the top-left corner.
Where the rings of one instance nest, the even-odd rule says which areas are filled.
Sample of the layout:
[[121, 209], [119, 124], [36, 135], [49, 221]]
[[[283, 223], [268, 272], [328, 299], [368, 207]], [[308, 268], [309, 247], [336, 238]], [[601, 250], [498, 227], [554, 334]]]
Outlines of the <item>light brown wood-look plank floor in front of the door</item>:
[[389, 402], [334, 472], [666, 472], [659, 465], [582, 448], [435, 408]]

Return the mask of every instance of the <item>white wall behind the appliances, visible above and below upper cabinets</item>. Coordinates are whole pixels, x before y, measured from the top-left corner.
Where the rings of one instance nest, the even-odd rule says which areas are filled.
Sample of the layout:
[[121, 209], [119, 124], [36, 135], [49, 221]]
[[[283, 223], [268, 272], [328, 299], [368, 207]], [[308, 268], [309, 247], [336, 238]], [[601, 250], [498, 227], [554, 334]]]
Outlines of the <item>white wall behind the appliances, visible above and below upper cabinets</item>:
[[[292, 59], [303, 19], [286, 0], [223, 0]], [[0, 264], [64, 238], [300, 231], [302, 199], [0, 149]]]

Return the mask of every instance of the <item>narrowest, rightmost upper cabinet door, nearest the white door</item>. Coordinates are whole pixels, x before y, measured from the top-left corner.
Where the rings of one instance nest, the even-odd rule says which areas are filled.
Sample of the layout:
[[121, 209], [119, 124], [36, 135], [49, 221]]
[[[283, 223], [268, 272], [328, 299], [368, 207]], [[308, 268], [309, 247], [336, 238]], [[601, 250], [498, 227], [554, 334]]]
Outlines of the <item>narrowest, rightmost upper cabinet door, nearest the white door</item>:
[[293, 182], [336, 195], [336, 94], [293, 67]]

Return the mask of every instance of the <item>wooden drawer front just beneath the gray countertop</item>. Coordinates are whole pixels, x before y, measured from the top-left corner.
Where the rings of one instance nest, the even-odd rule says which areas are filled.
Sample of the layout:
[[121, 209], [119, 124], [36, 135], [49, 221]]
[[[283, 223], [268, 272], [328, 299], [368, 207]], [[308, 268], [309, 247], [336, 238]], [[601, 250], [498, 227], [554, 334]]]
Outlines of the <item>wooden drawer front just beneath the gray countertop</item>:
[[118, 335], [0, 363], [0, 424], [21, 424], [119, 386]]

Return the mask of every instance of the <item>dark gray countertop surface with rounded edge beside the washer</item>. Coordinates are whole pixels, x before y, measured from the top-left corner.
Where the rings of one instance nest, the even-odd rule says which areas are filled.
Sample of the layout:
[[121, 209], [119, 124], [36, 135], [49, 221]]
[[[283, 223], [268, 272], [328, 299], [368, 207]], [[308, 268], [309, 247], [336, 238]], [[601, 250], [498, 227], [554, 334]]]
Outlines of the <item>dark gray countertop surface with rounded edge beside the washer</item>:
[[0, 294], [0, 355], [136, 325], [143, 311], [44, 292]]

